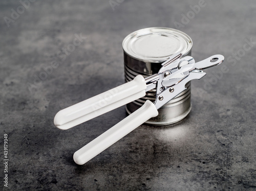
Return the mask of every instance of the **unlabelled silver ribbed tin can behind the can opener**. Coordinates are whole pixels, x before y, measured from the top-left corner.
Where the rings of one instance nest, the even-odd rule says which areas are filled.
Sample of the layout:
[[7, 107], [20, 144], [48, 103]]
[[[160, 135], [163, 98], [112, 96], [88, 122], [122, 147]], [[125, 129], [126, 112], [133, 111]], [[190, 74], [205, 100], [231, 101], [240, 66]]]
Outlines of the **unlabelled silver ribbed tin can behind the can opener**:
[[[122, 43], [125, 82], [133, 80], [137, 75], [148, 77], [158, 73], [161, 63], [177, 52], [181, 52], [183, 56], [191, 56], [192, 45], [191, 38], [176, 29], [154, 27], [129, 34]], [[146, 124], [168, 125], [186, 117], [191, 109], [190, 82], [186, 87], [175, 99], [158, 109], [159, 115], [148, 120]], [[127, 104], [126, 111], [131, 114], [146, 100], [154, 102], [155, 94], [155, 89], [147, 91], [145, 97]]]

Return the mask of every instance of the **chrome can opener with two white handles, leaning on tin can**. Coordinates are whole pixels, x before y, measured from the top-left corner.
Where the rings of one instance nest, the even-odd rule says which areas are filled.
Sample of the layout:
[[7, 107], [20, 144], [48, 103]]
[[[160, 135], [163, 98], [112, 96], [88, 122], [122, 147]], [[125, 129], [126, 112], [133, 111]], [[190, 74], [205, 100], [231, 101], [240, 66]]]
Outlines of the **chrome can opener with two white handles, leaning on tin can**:
[[156, 88], [154, 103], [147, 100], [135, 112], [74, 153], [74, 161], [84, 164], [151, 117], [157, 116], [157, 110], [184, 91], [186, 83], [206, 75], [202, 69], [219, 65], [223, 61], [224, 56], [214, 55], [196, 63], [193, 57], [182, 57], [181, 53], [177, 53], [162, 63], [158, 74], [147, 78], [138, 75], [130, 82], [60, 110], [54, 117], [54, 125], [62, 130], [70, 129], [144, 97], [146, 91]]

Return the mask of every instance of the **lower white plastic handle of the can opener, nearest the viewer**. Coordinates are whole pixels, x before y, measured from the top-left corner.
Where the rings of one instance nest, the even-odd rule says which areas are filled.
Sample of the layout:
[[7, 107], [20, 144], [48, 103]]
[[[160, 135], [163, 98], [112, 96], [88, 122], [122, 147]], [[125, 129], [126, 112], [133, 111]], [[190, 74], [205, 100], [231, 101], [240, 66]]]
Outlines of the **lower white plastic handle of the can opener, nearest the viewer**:
[[93, 157], [109, 148], [116, 141], [149, 120], [151, 117], [155, 117], [157, 115], [158, 111], [155, 105], [151, 101], [147, 100], [138, 110], [124, 118], [124, 120], [113, 126], [108, 131], [104, 132], [89, 142], [89, 144], [86, 146], [76, 151], [73, 156], [74, 161], [80, 165], [88, 162]]

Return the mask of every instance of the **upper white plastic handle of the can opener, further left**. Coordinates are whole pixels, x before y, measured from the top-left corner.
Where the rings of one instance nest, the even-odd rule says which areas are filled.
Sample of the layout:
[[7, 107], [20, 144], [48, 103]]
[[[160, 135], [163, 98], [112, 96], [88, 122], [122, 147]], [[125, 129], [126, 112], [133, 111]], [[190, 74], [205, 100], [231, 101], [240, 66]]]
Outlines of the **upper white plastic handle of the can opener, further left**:
[[132, 81], [60, 110], [54, 117], [59, 129], [69, 129], [145, 96], [146, 83], [138, 75]]

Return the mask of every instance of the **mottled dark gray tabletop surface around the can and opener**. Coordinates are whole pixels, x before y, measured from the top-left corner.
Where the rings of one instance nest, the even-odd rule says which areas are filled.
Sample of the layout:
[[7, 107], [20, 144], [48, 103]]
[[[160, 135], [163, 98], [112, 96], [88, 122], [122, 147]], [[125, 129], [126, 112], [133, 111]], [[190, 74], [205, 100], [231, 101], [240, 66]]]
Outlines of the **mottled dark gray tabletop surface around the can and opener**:
[[[256, 41], [254, 0], [206, 1], [180, 28], [193, 39], [197, 61], [223, 54], [228, 70], [217, 82], [221, 65], [192, 83], [193, 108], [183, 121], [142, 125], [81, 166], [73, 153], [121, 121], [125, 109], [67, 131], [54, 127], [56, 112], [123, 82], [127, 34], [177, 28], [199, 1], [126, 0], [114, 11], [108, 0], [36, 1], [9, 27], [4, 17], [21, 4], [0, 4], [0, 136], [3, 153], [8, 134], [10, 159], [4, 190], [256, 190], [256, 46], [241, 51], [245, 39]], [[80, 33], [86, 39], [60, 56]], [[228, 61], [236, 52], [237, 61]], [[28, 83], [53, 61], [58, 67], [30, 91]]]

